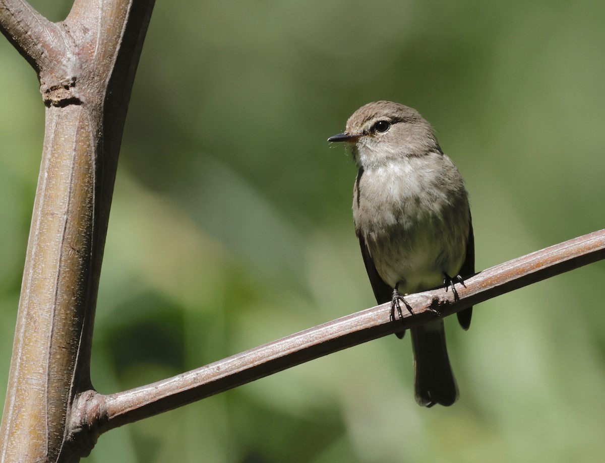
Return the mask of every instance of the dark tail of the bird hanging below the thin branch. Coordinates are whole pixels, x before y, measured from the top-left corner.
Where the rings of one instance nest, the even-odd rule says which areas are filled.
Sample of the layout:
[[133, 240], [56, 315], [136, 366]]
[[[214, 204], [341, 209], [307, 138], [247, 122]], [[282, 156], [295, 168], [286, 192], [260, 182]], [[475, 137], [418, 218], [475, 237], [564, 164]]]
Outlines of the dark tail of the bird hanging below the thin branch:
[[424, 407], [450, 406], [458, 398], [458, 387], [445, 346], [443, 320], [411, 328], [416, 375], [416, 402]]

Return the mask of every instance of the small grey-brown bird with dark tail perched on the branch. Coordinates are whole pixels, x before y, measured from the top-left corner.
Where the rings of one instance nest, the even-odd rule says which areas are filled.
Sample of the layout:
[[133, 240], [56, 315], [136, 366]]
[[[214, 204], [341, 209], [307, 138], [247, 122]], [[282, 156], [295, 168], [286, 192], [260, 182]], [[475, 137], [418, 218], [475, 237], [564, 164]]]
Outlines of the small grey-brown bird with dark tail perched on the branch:
[[[376, 101], [328, 138], [350, 147], [359, 168], [353, 221], [371, 287], [379, 304], [401, 316], [405, 295], [455, 283], [474, 274], [474, 235], [464, 181], [443, 154], [431, 125], [409, 106]], [[473, 308], [457, 313], [463, 329]], [[450, 406], [459, 397], [443, 319], [410, 328], [414, 392], [420, 406]], [[397, 332], [402, 338], [404, 331]]]

